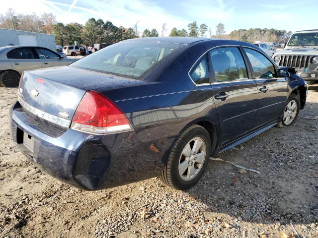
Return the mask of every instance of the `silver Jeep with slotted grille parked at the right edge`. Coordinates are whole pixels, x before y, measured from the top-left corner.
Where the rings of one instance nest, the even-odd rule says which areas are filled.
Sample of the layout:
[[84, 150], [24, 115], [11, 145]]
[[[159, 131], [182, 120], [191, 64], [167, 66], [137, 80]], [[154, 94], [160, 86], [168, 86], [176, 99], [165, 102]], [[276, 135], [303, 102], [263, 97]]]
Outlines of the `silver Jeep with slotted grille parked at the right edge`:
[[318, 82], [318, 30], [295, 32], [284, 50], [276, 52], [273, 60], [278, 66], [293, 67], [308, 83]]

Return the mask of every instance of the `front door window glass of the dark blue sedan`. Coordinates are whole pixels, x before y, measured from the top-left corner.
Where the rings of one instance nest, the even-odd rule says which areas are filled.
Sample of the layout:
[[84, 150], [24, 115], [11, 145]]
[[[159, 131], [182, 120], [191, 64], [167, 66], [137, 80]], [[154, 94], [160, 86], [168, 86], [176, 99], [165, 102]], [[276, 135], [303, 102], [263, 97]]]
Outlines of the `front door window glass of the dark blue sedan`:
[[273, 78], [275, 75], [275, 67], [270, 60], [257, 51], [244, 49], [246, 55], [252, 64], [255, 78]]

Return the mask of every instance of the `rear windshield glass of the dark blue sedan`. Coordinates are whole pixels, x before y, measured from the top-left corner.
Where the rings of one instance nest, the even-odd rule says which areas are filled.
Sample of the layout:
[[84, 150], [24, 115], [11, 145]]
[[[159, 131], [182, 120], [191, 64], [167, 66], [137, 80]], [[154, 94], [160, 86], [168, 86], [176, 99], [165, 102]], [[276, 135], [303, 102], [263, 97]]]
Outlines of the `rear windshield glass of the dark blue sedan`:
[[124, 41], [88, 55], [70, 66], [141, 79], [162, 60], [185, 47], [162, 42]]

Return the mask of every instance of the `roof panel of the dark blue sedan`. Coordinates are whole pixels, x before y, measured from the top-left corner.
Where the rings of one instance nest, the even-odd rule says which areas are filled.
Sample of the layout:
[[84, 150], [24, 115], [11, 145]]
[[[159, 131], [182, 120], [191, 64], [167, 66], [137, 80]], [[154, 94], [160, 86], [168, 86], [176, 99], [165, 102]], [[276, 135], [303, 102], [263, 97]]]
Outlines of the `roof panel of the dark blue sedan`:
[[211, 41], [219, 40], [214, 38], [203, 38], [203, 37], [181, 37], [181, 36], [170, 36], [170, 37], [144, 37], [144, 38], [133, 38], [125, 41], [149, 41], [149, 42], [166, 42], [174, 44], [191, 45], [200, 41]]

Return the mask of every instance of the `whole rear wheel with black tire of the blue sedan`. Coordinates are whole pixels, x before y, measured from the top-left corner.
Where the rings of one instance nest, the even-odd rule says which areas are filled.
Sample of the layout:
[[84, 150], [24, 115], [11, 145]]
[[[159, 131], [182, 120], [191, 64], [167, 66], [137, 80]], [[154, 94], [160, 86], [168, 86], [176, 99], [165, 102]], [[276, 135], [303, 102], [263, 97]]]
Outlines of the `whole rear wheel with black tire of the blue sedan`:
[[172, 146], [160, 179], [168, 186], [185, 190], [202, 177], [211, 154], [208, 131], [200, 125], [187, 128]]

